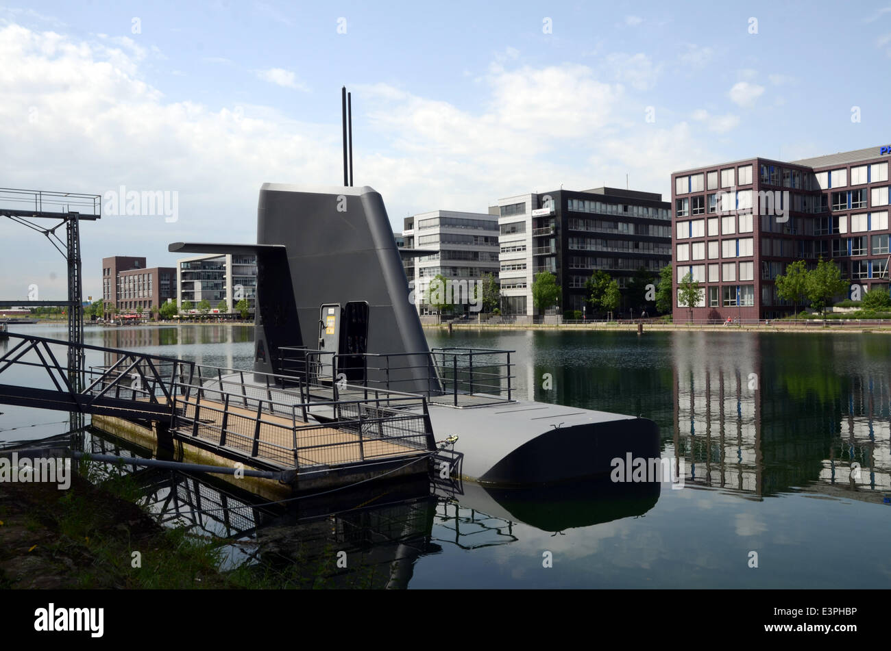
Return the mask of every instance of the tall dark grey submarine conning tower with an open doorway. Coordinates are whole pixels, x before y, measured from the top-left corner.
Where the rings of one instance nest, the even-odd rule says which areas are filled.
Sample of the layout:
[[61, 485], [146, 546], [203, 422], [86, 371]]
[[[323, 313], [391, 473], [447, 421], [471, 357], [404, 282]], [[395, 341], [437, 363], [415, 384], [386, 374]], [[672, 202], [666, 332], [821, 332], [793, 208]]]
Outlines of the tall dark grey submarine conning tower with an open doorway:
[[[257, 245], [255, 371], [280, 372], [282, 347], [387, 353], [398, 359], [386, 371], [389, 386], [438, 389], [431, 386], [437, 375], [378, 192], [367, 186], [265, 183], [257, 205]], [[366, 362], [367, 380], [383, 381], [385, 371], [374, 358], [364, 359], [372, 360]]]

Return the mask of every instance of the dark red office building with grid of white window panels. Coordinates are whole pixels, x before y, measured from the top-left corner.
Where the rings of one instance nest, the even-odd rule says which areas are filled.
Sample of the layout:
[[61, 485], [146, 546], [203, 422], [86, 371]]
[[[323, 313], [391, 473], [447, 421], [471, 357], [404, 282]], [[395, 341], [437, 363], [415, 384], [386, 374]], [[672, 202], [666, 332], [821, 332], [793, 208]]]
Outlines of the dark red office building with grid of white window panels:
[[701, 288], [695, 320], [790, 314], [774, 281], [797, 260], [834, 261], [861, 294], [887, 290], [889, 158], [891, 147], [872, 147], [673, 173], [674, 318], [691, 317], [678, 298], [688, 273]]

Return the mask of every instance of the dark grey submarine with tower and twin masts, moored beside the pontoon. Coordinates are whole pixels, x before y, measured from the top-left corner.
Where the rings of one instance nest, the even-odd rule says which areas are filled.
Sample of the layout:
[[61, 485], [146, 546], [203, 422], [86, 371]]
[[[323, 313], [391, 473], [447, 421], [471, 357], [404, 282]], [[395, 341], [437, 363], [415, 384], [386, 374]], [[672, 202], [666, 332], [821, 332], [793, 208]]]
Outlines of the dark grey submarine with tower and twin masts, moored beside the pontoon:
[[255, 373], [293, 374], [296, 355], [331, 386], [421, 395], [434, 436], [453, 442], [450, 473], [483, 485], [552, 485], [602, 476], [627, 454], [658, 458], [649, 419], [517, 399], [511, 351], [429, 348], [403, 265], [429, 252], [400, 249], [383, 197], [353, 185], [345, 88], [341, 97], [342, 186], [264, 183], [256, 243], [168, 245], [257, 256]]

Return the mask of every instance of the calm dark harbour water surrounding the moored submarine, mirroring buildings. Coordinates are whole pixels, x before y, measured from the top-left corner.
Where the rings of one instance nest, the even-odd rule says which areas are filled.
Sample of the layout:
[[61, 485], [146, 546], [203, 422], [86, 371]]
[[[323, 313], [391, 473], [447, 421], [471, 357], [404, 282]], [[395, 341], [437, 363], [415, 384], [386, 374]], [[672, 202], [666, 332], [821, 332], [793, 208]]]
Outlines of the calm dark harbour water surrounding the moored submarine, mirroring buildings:
[[[64, 326], [18, 326], [26, 328], [64, 337]], [[178, 325], [88, 328], [86, 337], [249, 366], [252, 332]], [[523, 398], [651, 418], [663, 456], [683, 460], [683, 489], [587, 482], [520, 494], [465, 486], [455, 503], [429, 497], [426, 488], [398, 499], [367, 488], [367, 500], [342, 496], [264, 522], [288, 523], [302, 543], [344, 546], [388, 575], [383, 583], [413, 588], [891, 583], [891, 504], [883, 502], [891, 498], [891, 337], [437, 331], [428, 338], [433, 346], [516, 350]], [[552, 389], [545, 390], [548, 375]], [[0, 443], [65, 430], [27, 427], [64, 414], [0, 411]], [[343, 512], [323, 518], [320, 534], [325, 510]], [[750, 567], [753, 552], [757, 567]], [[543, 567], [549, 555], [552, 567]], [[393, 559], [403, 559], [398, 573]]]

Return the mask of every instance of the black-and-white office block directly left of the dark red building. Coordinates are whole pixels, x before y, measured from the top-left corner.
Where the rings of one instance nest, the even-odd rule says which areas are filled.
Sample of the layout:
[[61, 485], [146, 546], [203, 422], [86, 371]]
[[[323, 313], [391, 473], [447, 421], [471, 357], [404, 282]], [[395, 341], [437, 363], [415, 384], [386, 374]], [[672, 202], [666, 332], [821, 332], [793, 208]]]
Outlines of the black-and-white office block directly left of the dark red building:
[[560, 189], [499, 199], [489, 213], [500, 229], [505, 315], [537, 314], [532, 284], [541, 271], [556, 277], [560, 305], [552, 311], [563, 313], [587, 307], [585, 283], [598, 269], [623, 288], [641, 268], [658, 282], [658, 272], [671, 263], [670, 204], [657, 193]]

